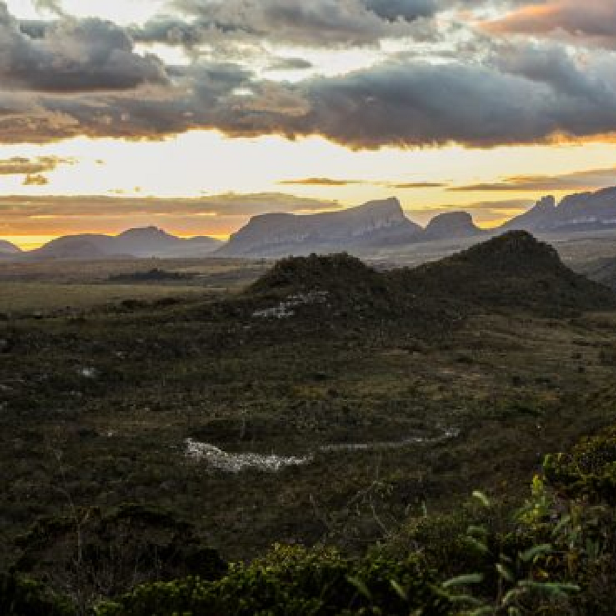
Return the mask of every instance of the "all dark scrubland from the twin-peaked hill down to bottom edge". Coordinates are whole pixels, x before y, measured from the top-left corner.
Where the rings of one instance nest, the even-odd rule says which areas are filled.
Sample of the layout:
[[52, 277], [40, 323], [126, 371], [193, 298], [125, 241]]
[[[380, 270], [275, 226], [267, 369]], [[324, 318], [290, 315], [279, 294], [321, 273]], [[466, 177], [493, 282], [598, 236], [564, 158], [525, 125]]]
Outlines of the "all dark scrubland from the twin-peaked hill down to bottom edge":
[[611, 614], [615, 366], [523, 232], [7, 316], [0, 612]]

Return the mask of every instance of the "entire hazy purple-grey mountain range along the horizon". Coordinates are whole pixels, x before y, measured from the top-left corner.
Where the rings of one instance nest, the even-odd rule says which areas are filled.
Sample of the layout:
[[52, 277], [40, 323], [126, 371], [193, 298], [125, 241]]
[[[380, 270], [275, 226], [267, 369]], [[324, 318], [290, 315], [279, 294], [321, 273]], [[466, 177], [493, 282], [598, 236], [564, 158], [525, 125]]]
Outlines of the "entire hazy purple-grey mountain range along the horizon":
[[214, 238], [177, 238], [157, 229], [129, 229], [120, 235], [66, 235], [33, 251], [0, 240], [0, 259], [107, 259], [113, 257], [266, 257], [310, 253], [370, 253], [378, 248], [420, 242], [478, 240], [502, 231], [576, 233], [616, 229], [616, 187], [572, 194], [560, 203], [541, 198], [524, 214], [498, 229], [483, 231], [472, 216], [453, 211], [435, 216], [425, 228], [409, 220], [397, 198], [320, 214], [261, 214], [223, 244]]

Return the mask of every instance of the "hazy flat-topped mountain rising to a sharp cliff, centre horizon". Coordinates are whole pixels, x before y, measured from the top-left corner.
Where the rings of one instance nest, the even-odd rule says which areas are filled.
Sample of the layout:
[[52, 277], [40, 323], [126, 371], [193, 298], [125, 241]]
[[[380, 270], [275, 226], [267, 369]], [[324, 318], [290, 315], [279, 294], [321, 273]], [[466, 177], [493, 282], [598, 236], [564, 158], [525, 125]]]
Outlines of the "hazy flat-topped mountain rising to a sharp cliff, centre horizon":
[[417, 240], [422, 228], [411, 222], [396, 198], [370, 201], [342, 211], [298, 216], [254, 216], [217, 255], [280, 257], [376, 248]]

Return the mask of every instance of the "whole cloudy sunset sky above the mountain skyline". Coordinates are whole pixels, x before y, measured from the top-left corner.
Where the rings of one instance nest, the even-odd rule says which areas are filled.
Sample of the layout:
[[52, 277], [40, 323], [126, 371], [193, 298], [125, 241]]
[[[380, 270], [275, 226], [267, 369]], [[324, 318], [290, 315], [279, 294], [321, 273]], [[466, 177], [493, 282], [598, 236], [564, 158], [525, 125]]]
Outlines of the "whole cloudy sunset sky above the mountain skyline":
[[616, 184], [616, 0], [0, 0], [0, 237]]

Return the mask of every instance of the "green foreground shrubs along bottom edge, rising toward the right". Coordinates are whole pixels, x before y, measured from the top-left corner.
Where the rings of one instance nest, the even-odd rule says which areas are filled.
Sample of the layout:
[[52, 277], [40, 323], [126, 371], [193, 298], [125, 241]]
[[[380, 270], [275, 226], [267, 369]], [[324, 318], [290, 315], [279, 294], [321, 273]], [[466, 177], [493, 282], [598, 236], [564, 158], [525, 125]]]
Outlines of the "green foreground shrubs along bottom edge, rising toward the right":
[[[160, 581], [112, 601], [79, 604], [79, 594], [70, 600], [13, 573], [0, 579], [0, 607], [3, 614], [27, 616], [90, 610], [97, 616], [609, 615], [616, 602], [615, 467], [611, 428], [572, 452], [546, 457], [515, 511], [477, 492], [461, 511], [403, 525], [361, 558], [333, 548], [277, 545], [251, 563], [225, 565], [211, 550], [188, 554], [186, 535], [180, 558], [177, 552], [159, 556], [164, 567], [174, 560], [192, 565], [190, 576], [164, 581], [172, 574], [159, 570]], [[145, 511], [131, 515], [162, 522]], [[105, 578], [110, 565], [119, 568], [108, 553], [119, 543], [114, 535], [81, 557], [77, 551], [92, 544], [75, 543], [73, 556], [80, 561], [73, 591]], [[142, 543], [141, 549], [152, 547]]]

